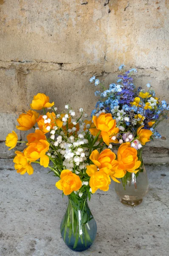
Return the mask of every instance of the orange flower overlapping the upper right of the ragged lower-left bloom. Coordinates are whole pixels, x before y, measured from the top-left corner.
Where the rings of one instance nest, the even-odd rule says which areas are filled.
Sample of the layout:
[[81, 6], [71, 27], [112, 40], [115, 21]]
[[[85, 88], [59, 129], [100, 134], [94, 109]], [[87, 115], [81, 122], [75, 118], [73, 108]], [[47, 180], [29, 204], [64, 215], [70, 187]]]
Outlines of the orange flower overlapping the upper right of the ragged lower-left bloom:
[[34, 162], [40, 158], [40, 165], [48, 167], [49, 158], [45, 155], [49, 149], [49, 143], [46, 140], [39, 140], [39, 142], [31, 143], [24, 149], [24, 155], [30, 162]]

